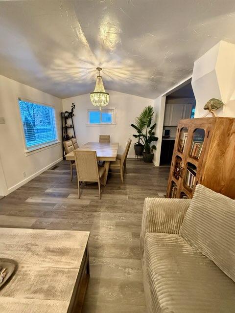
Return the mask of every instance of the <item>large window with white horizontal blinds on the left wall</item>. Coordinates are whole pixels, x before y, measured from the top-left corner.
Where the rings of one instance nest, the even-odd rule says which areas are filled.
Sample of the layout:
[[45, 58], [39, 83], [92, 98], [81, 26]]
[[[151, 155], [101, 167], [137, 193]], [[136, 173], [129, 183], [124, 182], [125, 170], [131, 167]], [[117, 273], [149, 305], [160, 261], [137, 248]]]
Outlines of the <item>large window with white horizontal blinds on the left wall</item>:
[[19, 98], [21, 119], [27, 149], [57, 141], [55, 109]]

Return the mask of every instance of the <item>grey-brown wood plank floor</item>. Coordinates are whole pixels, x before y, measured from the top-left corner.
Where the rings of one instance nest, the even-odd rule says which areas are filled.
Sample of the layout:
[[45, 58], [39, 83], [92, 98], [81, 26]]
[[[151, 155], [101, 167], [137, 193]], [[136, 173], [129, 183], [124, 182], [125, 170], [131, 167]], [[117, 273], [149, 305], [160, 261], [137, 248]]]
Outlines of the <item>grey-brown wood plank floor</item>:
[[145, 197], [164, 197], [168, 167], [128, 160], [124, 184], [110, 175], [98, 199], [97, 184], [70, 181], [62, 161], [0, 200], [0, 226], [89, 230], [91, 278], [84, 313], [143, 313], [139, 237]]

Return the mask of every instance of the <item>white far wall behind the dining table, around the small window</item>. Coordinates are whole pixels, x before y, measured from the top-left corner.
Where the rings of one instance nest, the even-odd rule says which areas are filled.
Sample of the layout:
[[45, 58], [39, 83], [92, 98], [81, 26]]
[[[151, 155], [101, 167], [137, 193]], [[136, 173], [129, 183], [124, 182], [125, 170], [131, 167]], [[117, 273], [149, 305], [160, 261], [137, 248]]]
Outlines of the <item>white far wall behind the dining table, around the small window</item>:
[[87, 110], [94, 109], [91, 103], [90, 94], [83, 94], [76, 97], [63, 99], [64, 111], [71, 111], [72, 102], [75, 103], [74, 126], [79, 145], [86, 142], [99, 140], [99, 134], [110, 134], [111, 141], [119, 142], [118, 153], [122, 153], [128, 138], [132, 139], [129, 157], [134, 157], [134, 143], [137, 141], [132, 134], [136, 134], [135, 129], [130, 125], [135, 123], [135, 118], [141, 113], [144, 107], [153, 106], [154, 100], [138, 97], [135, 95], [109, 90], [110, 101], [107, 109], [116, 108], [116, 127], [114, 126], [88, 126]]

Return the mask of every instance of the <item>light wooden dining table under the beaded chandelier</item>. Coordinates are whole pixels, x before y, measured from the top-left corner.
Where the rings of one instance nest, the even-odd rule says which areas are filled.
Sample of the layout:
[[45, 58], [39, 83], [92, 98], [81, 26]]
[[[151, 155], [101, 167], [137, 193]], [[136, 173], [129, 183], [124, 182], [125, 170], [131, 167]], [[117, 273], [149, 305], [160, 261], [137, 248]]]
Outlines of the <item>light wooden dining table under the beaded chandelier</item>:
[[[104, 161], [105, 179], [103, 185], [106, 185], [110, 161], [116, 161], [118, 154], [118, 142], [87, 142], [76, 150], [95, 150], [98, 161]], [[74, 161], [73, 151], [68, 153], [65, 158]]]

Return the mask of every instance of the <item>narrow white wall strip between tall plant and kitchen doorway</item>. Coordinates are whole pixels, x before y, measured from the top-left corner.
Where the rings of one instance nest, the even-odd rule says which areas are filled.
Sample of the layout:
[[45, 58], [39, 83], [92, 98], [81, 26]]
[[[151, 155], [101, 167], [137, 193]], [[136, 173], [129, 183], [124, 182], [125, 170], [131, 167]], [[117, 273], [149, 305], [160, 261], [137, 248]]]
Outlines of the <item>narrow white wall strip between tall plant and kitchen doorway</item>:
[[153, 163], [155, 166], [159, 166], [160, 156], [161, 156], [162, 137], [163, 137], [165, 96], [160, 96], [157, 99], [155, 99], [153, 108], [154, 108], [154, 113], [155, 113], [155, 123], [157, 123], [155, 135], [158, 137], [158, 141], [156, 143], [157, 150], [154, 152]]

